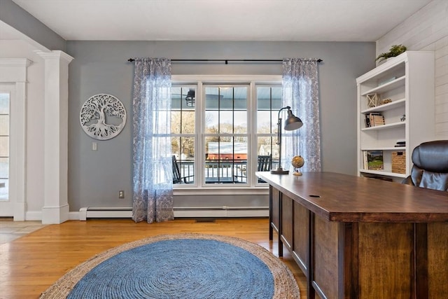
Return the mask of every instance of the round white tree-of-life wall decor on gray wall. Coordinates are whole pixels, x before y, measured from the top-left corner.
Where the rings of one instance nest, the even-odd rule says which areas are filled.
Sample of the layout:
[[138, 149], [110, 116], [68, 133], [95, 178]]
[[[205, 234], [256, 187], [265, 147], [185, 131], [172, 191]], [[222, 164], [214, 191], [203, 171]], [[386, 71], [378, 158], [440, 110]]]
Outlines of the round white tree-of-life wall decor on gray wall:
[[85, 134], [90, 137], [98, 140], [112, 139], [125, 127], [125, 106], [113, 95], [94, 95], [81, 107], [79, 120]]

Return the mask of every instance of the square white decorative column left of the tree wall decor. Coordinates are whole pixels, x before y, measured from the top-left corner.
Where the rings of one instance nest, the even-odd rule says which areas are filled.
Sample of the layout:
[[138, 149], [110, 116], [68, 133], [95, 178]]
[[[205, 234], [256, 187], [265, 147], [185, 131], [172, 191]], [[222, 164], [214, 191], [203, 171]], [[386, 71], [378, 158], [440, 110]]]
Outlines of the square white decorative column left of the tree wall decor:
[[69, 220], [68, 133], [69, 63], [62, 51], [38, 52], [45, 60], [45, 154], [42, 223]]

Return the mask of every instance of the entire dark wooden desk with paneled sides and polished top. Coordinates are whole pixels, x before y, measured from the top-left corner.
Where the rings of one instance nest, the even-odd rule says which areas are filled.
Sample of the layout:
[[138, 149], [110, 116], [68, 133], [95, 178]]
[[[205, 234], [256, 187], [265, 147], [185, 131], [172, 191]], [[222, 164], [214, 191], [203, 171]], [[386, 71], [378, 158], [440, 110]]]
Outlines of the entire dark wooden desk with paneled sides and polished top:
[[257, 172], [315, 298], [447, 298], [448, 193], [330, 172]]

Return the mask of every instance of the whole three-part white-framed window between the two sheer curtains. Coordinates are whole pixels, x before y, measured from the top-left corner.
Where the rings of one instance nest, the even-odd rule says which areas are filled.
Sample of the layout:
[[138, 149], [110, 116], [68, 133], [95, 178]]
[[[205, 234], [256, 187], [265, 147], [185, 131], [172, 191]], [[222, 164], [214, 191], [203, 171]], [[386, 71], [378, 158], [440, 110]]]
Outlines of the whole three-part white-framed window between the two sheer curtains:
[[174, 185], [266, 186], [255, 172], [259, 156], [277, 163], [280, 108], [280, 82], [173, 83]]

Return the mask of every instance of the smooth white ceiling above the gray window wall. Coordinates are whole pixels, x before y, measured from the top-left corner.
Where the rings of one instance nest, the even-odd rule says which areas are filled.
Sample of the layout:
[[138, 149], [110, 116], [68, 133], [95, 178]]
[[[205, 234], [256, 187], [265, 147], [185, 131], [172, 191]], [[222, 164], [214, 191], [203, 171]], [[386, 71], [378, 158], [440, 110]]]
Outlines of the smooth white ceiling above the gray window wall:
[[13, 1], [66, 40], [377, 41], [431, 0]]

